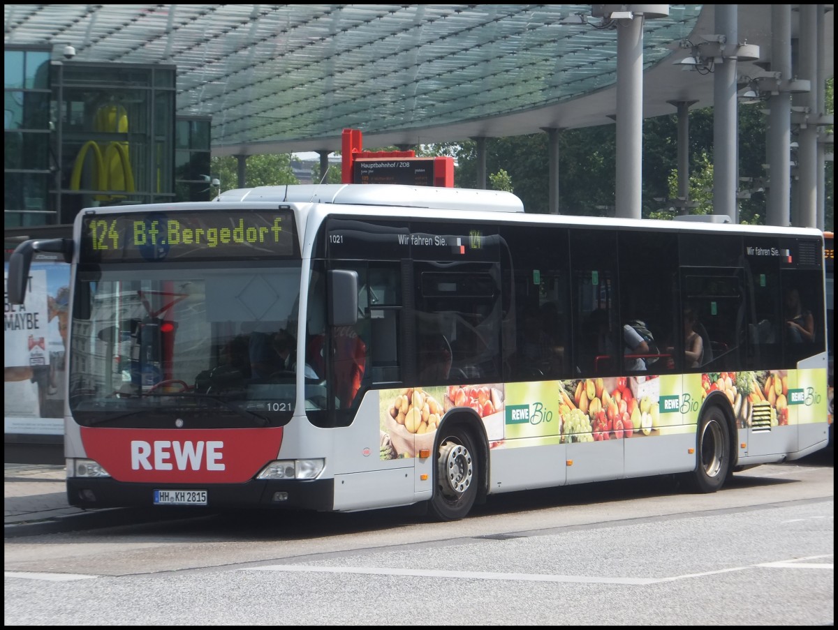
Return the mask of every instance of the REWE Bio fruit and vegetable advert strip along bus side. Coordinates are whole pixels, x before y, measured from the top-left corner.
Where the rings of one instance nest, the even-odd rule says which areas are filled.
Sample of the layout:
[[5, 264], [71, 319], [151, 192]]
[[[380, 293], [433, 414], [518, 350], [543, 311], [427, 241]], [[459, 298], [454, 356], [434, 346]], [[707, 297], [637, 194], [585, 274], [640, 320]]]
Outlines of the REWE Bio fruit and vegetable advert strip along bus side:
[[716, 390], [742, 429], [825, 421], [825, 387], [823, 370], [799, 369], [382, 390], [380, 458], [432, 452], [437, 427], [454, 408], [477, 413], [489, 447], [530, 447], [694, 432]]

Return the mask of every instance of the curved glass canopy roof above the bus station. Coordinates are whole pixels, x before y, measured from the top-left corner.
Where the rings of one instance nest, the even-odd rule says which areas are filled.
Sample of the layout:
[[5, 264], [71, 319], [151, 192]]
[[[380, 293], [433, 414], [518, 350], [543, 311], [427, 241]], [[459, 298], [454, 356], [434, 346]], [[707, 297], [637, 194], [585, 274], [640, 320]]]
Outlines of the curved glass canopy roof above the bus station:
[[[75, 61], [176, 65], [178, 115], [212, 116], [214, 151], [259, 152], [252, 147], [300, 141], [311, 147], [318, 139], [337, 149], [345, 128], [365, 135], [427, 130], [602, 90], [616, 81], [618, 26], [590, 17], [591, 6], [6, 4], [3, 10], [7, 46], [51, 44], [53, 59], [62, 60], [70, 44]], [[648, 69], [691, 34], [702, 5], [644, 6], [669, 7], [668, 16], [644, 21]], [[562, 23], [577, 14], [590, 19]]]

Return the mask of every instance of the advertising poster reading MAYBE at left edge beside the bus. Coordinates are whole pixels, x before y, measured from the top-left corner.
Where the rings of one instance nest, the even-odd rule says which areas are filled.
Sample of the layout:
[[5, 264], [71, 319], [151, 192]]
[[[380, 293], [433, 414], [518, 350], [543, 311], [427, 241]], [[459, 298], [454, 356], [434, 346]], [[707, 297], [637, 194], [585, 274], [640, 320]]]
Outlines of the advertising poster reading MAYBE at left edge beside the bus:
[[33, 261], [23, 305], [8, 302], [8, 262], [3, 278], [3, 430], [63, 435], [70, 266]]

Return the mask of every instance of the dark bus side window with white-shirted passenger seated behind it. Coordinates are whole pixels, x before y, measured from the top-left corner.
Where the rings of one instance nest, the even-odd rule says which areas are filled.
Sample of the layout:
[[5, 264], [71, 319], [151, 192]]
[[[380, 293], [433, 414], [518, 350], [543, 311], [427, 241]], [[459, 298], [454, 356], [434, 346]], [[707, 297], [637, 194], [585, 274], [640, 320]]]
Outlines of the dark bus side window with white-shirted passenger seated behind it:
[[[645, 345], [622, 343], [626, 374], [662, 374], [680, 364], [675, 348], [683, 335], [675, 306], [678, 282], [677, 242], [671, 234], [640, 230], [618, 235], [620, 318], [643, 338]], [[630, 332], [630, 331], [629, 331]], [[630, 336], [630, 338], [632, 338]]]

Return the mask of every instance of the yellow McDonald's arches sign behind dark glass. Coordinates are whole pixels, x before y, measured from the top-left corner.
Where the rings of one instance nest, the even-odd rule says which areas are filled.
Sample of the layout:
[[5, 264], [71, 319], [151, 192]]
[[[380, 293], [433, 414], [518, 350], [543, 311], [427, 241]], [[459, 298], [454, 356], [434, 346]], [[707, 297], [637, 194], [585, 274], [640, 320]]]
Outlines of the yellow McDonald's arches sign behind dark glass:
[[[128, 112], [122, 105], [106, 105], [96, 110], [93, 120], [96, 132], [127, 133]], [[94, 140], [85, 142], [75, 157], [73, 173], [70, 175], [70, 190], [80, 190], [81, 173], [85, 167], [87, 151], [93, 151], [93, 185], [98, 190], [124, 190], [134, 192], [134, 175], [127, 142], [109, 142], [104, 155]], [[94, 199], [107, 201], [116, 195], [97, 194]]]

